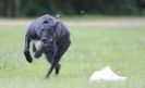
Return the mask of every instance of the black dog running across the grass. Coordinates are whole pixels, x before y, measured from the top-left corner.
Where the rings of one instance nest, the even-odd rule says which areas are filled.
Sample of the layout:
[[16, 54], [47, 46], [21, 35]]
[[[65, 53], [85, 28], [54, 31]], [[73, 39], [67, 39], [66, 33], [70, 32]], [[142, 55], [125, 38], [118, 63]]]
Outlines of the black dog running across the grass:
[[[56, 75], [58, 75], [60, 71], [59, 61], [71, 43], [70, 33], [64, 24], [56, 17], [46, 14], [29, 25], [25, 35], [24, 49], [25, 58], [29, 63], [33, 62], [29, 53], [29, 43], [32, 40], [34, 40], [33, 51], [35, 52], [35, 58], [40, 58], [45, 53], [46, 59], [51, 63], [46, 77], [49, 77], [53, 68], [56, 68]], [[35, 45], [36, 41], [39, 42], [39, 48]]]

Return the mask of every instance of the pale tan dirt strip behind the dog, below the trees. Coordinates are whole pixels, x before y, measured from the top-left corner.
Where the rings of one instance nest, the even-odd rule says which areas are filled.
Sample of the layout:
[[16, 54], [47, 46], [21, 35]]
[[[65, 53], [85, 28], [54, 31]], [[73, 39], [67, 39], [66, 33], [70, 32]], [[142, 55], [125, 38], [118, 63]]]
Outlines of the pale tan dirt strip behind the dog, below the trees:
[[[0, 26], [28, 26], [31, 22], [32, 20], [0, 20]], [[145, 26], [145, 18], [65, 20], [63, 22], [68, 26]]]

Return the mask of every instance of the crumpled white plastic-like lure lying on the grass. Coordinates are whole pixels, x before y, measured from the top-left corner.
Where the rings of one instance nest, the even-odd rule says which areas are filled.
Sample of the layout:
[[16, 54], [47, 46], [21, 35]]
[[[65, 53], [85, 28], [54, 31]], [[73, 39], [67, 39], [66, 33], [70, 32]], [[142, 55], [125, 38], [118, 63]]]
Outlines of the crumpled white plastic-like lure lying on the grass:
[[101, 71], [95, 72], [89, 81], [118, 81], [118, 80], [126, 80], [128, 77], [117, 75], [110, 66], [106, 66]]

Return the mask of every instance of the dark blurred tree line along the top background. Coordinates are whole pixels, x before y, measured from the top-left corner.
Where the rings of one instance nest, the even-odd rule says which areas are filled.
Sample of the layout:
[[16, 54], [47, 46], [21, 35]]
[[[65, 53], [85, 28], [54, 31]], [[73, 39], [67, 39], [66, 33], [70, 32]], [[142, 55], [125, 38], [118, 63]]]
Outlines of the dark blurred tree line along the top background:
[[0, 0], [0, 16], [62, 14], [143, 15], [145, 0]]

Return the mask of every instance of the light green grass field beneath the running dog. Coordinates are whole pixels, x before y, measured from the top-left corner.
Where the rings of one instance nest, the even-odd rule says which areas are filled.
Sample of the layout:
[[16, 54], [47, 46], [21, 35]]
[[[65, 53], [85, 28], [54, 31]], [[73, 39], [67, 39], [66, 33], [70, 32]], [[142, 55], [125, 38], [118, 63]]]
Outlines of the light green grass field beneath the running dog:
[[[26, 26], [0, 26], [0, 88], [145, 88], [145, 26], [68, 27], [72, 45], [60, 75], [45, 79], [45, 58], [29, 64], [23, 55]], [[129, 79], [90, 84], [93, 72], [107, 65]]]

